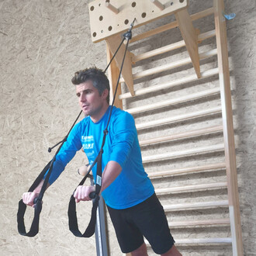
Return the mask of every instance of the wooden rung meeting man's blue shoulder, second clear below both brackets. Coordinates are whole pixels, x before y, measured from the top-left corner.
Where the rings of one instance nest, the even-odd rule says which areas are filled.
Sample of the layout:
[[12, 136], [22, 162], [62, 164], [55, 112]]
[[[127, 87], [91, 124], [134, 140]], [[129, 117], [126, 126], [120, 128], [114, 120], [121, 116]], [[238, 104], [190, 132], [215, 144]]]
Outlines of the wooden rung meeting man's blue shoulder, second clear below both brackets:
[[177, 122], [194, 119], [194, 118], [198, 118], [198, 117], [202, 117], [202, 116], [209, 116], [209, 115], [217, 114], [217, 113], [220, 113], [221, 110], [222, 110], [221, 106], [217, 106], [213, 109], [203, 109], [203, 110], [199, 110], [199, 111], [195, 111], [195, 112], [185, 113], [185, 114], [178, 115], [178, 116], [171, 116], [171, 117], [167, 117], [167, 118], [156, 119], [156, 120], [153, 120], [150, 122], [138, 123], [136, 125], [136, 127], [137, 127], [137, 130], [143, 130], [143, 129], [147, 129], [147, 128], [151, 128], [151, 127], [155, 127], [155, 126], [165, 125], [168, 123], [177, 123]]

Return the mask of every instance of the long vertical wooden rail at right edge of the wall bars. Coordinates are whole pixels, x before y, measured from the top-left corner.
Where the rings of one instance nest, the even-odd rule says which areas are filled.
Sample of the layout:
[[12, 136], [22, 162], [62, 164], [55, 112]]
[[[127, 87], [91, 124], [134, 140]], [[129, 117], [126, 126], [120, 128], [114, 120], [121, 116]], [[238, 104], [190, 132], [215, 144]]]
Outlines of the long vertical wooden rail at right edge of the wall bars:
[[227, 168], [228, 199], [230, 208], [230, 228], [232, 235], [233, 255], [243, 255], [242, 231], [237, 185], [236, 154], [234, 146], [233, 113], [230, 92], [230, 70], [228, 64], [226, 21], [223, 16], [223, 0], [213, 0], [216, 44], [220, 78], [220, 97], [223, 116], [223, 137], [225, 161]]

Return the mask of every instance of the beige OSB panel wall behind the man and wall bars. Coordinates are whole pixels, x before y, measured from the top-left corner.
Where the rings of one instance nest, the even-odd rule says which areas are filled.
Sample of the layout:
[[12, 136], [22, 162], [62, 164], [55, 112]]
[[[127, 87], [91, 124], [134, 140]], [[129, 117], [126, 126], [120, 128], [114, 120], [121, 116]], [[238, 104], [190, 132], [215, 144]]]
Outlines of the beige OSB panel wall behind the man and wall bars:
[[[227, 38], [230, 50], [231, 85], [235, 114], [237, 171], [240, 193], [240, 209], [244, 240], [244, 254], [252, 255], [256, 250], [255, 237], [255, 14], [254, 0], [240, 2], [226, 1], [227, 12], [235, 12], [237, 17], [227, 22]], [[190, 13], [199, 12], [212, 5], [212, 2], [191, 1]], [[78, 152], [68, 164], [61, 178], [46, 192], [40, 219], [40, 233], [34, 238], [21, 237], [16, 228], [16, 212], [22, 192], [26, 192], [34, 178], [54, 153], [47, 148], [61, 140], [69, 130], [80, 111], [74, 95], [71, 77], [74, 71], [96, 65], [106, 67], [105, 43], [93, 44], [90, 37], [88, 3], [86, 1], [2, 1], [0, 2], [1, 40], [1, 220], [0, 243], [2, 255], [95, 255], [95, 238], [79, 239], [70, 233], [67, 226], [67, 205], [71, 193], [81, 180], [77, 168], [86, 159]], [[155, 22], [170, 22], [173, 17]], [[210, 29], [213, 19], [207, 19]], [[195, 22], [200, 28], [202, 21]], [[167, 33], [165, 36], [173, 36]], [[178, 33], [171, 40], [178, 40]], [[167, 43], [168, 37], [159, 36], [140, 43], [145, 50]], [[170, 43], [170, 42], [169, 42]], [[207, 45], [202, 47], [207, 48]], [[137, 50], [137, 44], [131, 50]], [[140, 49], [141, 50], [141, 49]], [[142, 49], [143, 50], [143, 49]], [[169, 58], [175, 60], [175, 52]], [[103, 60], [103, 61], [102, 61]], [[166, 59], [152, 60], [154, 64], [165, 64]], [[144, 68], [137, 65], [134, 71]], [[145, 64], [146, 65], [146, 64]], [[204, 63], [204, 65], [212, 65]], [[189, 67], [190, 68], [190, 67]], [[175, 76], [192, 72], [192, 69], [177, 70], [163, 78], [154, 78], [152, 83], [175, 79]], [[216, 85], [216, 79], [201, 84], [202, 88]], [[144, 81], [137, 88], [145, 86]], [[123, 88], [125, 90], [125, 88]], [[188, 92], [194, 90], [188, 88]], [[177, 92], [171, 92], [177, 96]], [[176, 93], [176, 94], [175, 94]], [[151, 95], [159, 96], [159, 95]], [[150, 101], [142, 97], [138, 102], [126, 101], [125, 108]], [[213, 99], [215, 100], [215, 99]], [[208, 106], [201, 102], [201, 106]], [[186, 107], [186, 106], [185, 106]], [[178, 109], [171, 109], [177, 111]], [[161, 115], [161, 113], [157, 113]], [[138, 122], [150, 120], [150, 116], [136, 116]], [[214, 120], [212, 121], [215, 122]], [[192, 126], [192, 124], [191, 124]], [[196, 128], [196, 127], [195, 127]], [[184, 129], [187, 129], [185, 127]], [[175, 132], [175, 126], [172, 126]], [[154, 131], [161, 132], [161, 131]], [[139, 133], [140, 139], [144, 138]], [[216, 142], [220, 139], [213, 138]], [[191, 144], [194, 142], [191, 141]], [[182, 148], [182, 144], [175, 147]], [[152, 154], [157, 148], [145, 150]], [[223, 156], [216, 156], [223, 157]], [[175, 165], [175, 162], [174, 162]], [[147, 167], [148, 171], [154, 168]], [[207, 177], [194, 177], [207, 178]], [[174, 180], [173, 182], [180, 182]], [[188, 182], [183, 178], [182, 182]], [[163, 182], [161, 183], [163, 184]], [[167, 184], [166, 184], [167, 185]], [[156, 184], [157, 186], [157, 184]], [[164, 199], [163, 199], [164, 200]], [[89, 202], [78, 204], [78, 218], [81, 230], [85, 228], [90, 214]], [[27, 210], [31, 216], [32, 211]], [[175, 216], [170, 216], [175, 218]], [[184, 217], [184, 216], [183, 216]], [[175, 220], [175, 219], [174, 219]], [[85, 221], [83, 223], [83, 221]], [[29, 227], [29, 217], [26, 219]], [[111, 255], [120, 255], [115, 234], [109, 223]], [[218, 230], [220, 231], [220, 230]], [[223, 232], [227, 232], [223, 230]], [[175, 232], [174, 232], [175, 233]], [[190, 236], [191, 234], [187, 234]], [[207, 236], [207, 234], [206, 234]], [[184, 237], [187, 238], [187, 237]], [[230, 247], [213, 249], [211, 254], [227, 255]], [[190, 251], [189, 251], [190, 250]], [[205, 255], [206, 251], [195, 252], [195, 248], [182, 247], [186, 255]], [[215, 250], [215, 251], [214, 251]], [[193, 253], [191, 253], [193, 251]], [[209, 253], [209, 251], [207, 251]], [[150, 252], [151, 254], [151, 252]]]

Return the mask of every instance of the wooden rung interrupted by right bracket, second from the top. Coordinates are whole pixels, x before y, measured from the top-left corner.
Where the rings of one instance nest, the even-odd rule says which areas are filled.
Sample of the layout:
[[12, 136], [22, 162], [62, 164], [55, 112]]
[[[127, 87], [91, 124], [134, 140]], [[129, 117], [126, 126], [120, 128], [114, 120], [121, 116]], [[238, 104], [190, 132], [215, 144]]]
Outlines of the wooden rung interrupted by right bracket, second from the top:
[[[202, 40], [206, 40], [207, 38], [209, 37], [212, 37], [212, 36], [215, 36], [215, 30], [211, 30], [211, 31], [208, 31], [206, 33], [201, 33], [199, 34], [198, 36], [198, 42], [201, 42]], [[135, 64], [137, 61], [143, 61], [149, 57], [154, 57], [156, 55], [159, 55], [159, 54], [165, 54], [165, 53], [168, 53], [168, 51], [171, 51], [171, 50], [175, 50], [175, 49], [178, 49], [178, 48], [181, 48], [181, 47], [185, 47], [185, 41], [182, 40], [182, 41], [179, 41], [179, 42], [176, 42], [176, 43], [171, 43], [165, 47], [161, 47], [161, 48], [158, 48], [158, 49], [155, 49], [155, 50], [150, 50], [144, 54], [138, 54], [138, 55], [132, 55], [131, 56], [131, 60], [132, 60], [132, 63]]]

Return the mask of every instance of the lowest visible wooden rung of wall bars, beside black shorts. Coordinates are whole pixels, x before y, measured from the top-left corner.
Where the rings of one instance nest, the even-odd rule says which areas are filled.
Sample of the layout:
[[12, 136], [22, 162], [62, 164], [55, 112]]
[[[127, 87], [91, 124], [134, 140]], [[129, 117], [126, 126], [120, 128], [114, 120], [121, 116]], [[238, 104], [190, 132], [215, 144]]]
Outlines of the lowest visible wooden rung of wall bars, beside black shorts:
[[[211, 237], [211, 238], [185, 238], [175, 239], [176, 245], [198, 245], [198, 244], [231, 244], [231, 237]], [[147, 247], [150, 246], [149, 242], [145, 240]]]

